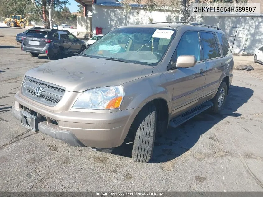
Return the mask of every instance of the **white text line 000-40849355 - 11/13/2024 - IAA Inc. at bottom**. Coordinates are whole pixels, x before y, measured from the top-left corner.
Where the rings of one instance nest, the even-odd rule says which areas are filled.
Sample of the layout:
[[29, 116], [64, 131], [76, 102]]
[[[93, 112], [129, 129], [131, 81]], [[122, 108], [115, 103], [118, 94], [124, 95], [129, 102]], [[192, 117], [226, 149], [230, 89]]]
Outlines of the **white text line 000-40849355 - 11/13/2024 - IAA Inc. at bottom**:
[[164, 196], [162, 192], [96, 192], [96, 196]]

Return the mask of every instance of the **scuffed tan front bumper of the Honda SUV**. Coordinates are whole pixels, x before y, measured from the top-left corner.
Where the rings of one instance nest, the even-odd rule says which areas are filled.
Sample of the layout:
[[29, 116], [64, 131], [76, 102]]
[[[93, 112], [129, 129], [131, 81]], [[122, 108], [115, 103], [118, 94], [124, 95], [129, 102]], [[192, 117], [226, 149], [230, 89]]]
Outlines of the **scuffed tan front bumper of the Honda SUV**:
[[18, 120], [21, 120], [21, 110], [36, 112], [41, 133], [71, 146], [113, 148], [123, 143], [140, 108], [111, 113], [51, 112], [26, 101], [17, 93], [12, 113]]

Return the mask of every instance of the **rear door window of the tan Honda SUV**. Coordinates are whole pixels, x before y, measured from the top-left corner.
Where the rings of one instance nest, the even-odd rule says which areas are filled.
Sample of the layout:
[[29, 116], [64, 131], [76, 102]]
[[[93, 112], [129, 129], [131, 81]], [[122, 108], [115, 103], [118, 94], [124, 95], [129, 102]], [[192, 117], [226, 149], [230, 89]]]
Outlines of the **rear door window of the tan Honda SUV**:
[[201, 32], [202, 47], [204, 52], [204, 60], [220, 57], [220, 50], [214, 33]]

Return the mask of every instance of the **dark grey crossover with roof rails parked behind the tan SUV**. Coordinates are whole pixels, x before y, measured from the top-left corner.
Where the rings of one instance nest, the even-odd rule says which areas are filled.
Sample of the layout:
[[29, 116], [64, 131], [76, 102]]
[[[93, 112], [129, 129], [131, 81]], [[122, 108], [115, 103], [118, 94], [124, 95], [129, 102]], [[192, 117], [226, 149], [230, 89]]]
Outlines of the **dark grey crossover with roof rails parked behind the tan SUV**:
[[86, 45], [67, 30], [37, 29], [22, 37], [21, 49], [32, 57], [47, 54], [49, 60], [55, 60], [62, 54], [81, 53]]

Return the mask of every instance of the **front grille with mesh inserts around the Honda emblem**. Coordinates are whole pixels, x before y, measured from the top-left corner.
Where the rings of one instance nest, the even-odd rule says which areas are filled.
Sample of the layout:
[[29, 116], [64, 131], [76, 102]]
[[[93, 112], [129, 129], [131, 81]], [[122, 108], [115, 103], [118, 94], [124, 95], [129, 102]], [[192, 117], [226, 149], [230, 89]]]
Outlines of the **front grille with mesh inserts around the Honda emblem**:
[[[41, 87], [42, 91], [38, 95], [37, 87]], [[55, 106], [65, 93], [63, 87], [56, 86], [47, 82], [43, 82], [31, 77], [26, 77], [23, 83], [22, 94], [26, 97], [47, 106]]]

